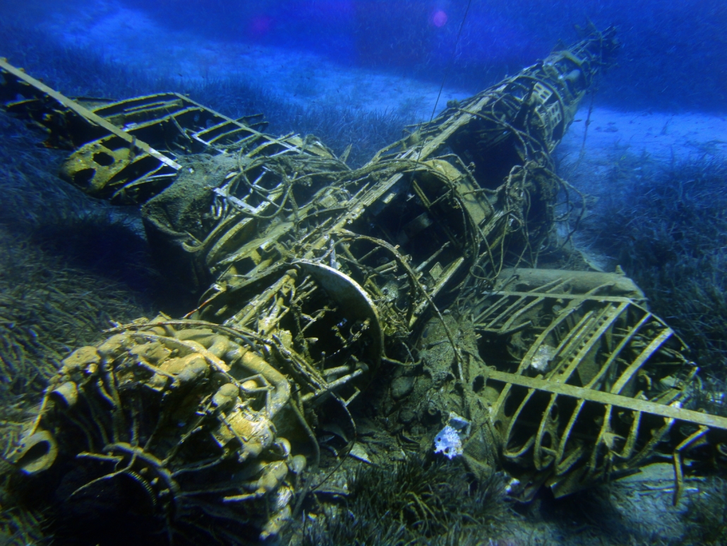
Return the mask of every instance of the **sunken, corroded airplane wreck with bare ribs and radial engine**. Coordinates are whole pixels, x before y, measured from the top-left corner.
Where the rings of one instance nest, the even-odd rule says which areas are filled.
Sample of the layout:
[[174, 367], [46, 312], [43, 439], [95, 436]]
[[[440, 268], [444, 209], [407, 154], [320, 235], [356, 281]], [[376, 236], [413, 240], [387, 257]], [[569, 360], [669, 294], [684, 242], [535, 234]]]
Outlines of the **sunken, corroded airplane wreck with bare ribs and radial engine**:
[[[665, 455], [678, 496], [683, 459], [727, 455], [727, 419], [686, 408], [685, 345], [623, 274], [537, 268], [571, 189], [550, 153], [617, 47], [594, 32], [353, 170], [260, 116], [175, 93], [71, 100], [0, 63], [7, 111], [72, 151], [63, 178], [141, 205], [169, 277], [204, 290], [63, 361], [15, 486], [119, 507], [133, 491], [170, 540], [217, 526], [222, 542], [284, 536], [340, 460], [393, 465], [402, 441], [503, 469], [523, 500]], [[374, 446], [351, 404], [377, 373]], [[337, 457], [319, 430], [342, 431]]]

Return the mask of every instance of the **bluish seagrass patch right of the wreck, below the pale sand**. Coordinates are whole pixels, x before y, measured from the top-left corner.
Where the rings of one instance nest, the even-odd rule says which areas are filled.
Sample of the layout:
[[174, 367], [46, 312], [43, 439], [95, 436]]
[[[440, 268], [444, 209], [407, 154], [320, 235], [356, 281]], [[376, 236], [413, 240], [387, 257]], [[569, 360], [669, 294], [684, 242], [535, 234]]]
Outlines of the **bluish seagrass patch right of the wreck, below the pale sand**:
[[[616, 146], [591, 191], [579, 245], [620, 265], [675, 325], [722, 392], [727, 379], [727, 164], [702, 149], [662, 162]], [[567, 162], [566, 162], [567, 163]], [[574, 178], [582, 176], [563, 165]], [[719, 409], [718, 411], [724, 411]]]

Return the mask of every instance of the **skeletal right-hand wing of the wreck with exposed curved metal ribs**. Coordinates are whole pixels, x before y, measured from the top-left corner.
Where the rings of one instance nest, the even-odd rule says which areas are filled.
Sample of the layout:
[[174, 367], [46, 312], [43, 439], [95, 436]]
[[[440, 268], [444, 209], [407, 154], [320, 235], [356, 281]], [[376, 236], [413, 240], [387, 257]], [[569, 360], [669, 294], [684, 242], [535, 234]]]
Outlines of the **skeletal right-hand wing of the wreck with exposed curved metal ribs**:
[[683, 341], [619, 292], [640, 291], [617, 274], [508, 270], [473, 304], [475, 331], [510, 347], [482, 357], [494, 363], [501, 460], [531, 469], [523, 499], [543, 483], [562, 496], [633, 470], [664, 442], [680, 486], [681, 452], [708, 431], [725, 436], [727, 418], [682, 407], [697, 371]]

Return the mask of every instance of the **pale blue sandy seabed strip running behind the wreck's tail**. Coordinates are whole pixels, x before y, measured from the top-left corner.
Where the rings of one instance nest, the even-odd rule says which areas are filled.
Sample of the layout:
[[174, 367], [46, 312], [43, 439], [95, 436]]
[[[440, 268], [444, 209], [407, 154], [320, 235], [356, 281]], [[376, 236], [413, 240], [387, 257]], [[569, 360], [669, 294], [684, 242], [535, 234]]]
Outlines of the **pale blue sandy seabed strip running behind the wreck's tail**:
[[[440, 111], [448, 100], [462, 100], [472, 94], [445, 85], [438, 96], [436, 84], [340, 66], [307, 51], [214, 41], [173, 31], [113, 0], [95, 2], [93, 11], [87, 4], [83, 6], [76, 8], [79, 12], [64, 10], [44, 20], [41, 26], [49, 39], [92, 47], [109, 60], [179, 77], [180, 81], [244, 76], [251, 84], [304, 106], [334, 104], [367, 111], [406, 111], [419, 119], [429, 119], [435, 104]], [[598, 173], [617, 151], [646, 154], [657, 162], [704, 155], [727, 159], [727, 115], [596, 107], [589, 118], [588, 111], [584, 101], [558, 154], [573, 158], [583, 151], [582, 166], [589, 167], [590, 172]]]

